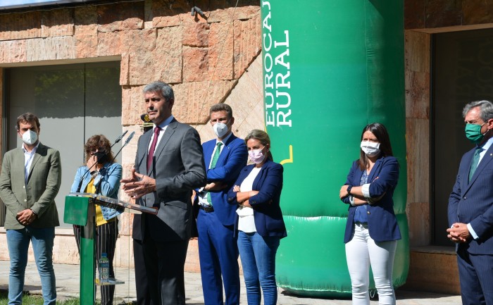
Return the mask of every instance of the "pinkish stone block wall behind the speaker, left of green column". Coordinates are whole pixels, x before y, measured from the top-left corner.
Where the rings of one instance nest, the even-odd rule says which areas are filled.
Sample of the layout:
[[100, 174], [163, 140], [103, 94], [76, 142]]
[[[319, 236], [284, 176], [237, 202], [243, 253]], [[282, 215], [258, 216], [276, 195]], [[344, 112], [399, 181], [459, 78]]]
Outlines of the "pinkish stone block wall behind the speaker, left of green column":
[[[122, 125], [136, 131], [123, 150], [123, 175], [130, 173], [142, 134], [142, 88], [154, 80], [175, 91], [173, 115], [214, 137], [208, 124], [211, 105], [227, 102], [234, 132], [244, 137], [263, 129], [261, 21], [259, 1], [196, 0], [204, 17], [191, 15], [186, 0], [145, 0], [83, 5], [0, 15], [1, 67], [120, 60]], [[3, 101], [2, 101], [3, 104]], [[120, 198], [128, 199], [125, 194]], [[132, 214], [124, 214], [116, 265], [132, 266]], [[4, 233], [0, 243], [5, 244]], [[54, 260], [78, 263], [73, 236], [57, 230]], [[6, 247], [0, 259], [8, 259]], [[198, 270], [196, 241], [189, 246], [187, 270]]]

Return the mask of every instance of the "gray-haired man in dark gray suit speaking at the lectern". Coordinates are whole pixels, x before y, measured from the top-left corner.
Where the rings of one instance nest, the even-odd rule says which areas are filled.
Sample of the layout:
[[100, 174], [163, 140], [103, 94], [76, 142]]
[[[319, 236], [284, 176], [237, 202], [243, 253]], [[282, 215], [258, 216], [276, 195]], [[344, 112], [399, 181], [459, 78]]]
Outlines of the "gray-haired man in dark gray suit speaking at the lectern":
[[164, 82], [144, 87], [154, 129], [139, 138], [135, 168], [123, 179], [125, 193], [158, 208], [142, 215], [144, 264], [154, 305], [185, 304], [184, 266], [192, 225], [192, 189], [206, 184], [199, 133], [171, 114], [173, 89]]

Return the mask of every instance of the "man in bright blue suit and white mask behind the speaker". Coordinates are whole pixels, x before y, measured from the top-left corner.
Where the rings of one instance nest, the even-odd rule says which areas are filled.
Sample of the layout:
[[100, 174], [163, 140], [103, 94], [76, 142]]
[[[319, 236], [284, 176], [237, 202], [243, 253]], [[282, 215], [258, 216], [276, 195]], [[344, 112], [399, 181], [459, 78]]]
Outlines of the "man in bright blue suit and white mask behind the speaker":
[[[227, 305], [239, 304], [239, 267], [235, 237], [236, 206], [227, 203], [227, 192], [246, 165], [246, 146], [235, 137], [235, 123], [227, 104], [211, 107], [211, 125], [217, 138], [202, 144], [207, 185], [196, 189], [194, 203], [199, 234], [199, 259], [205, 305], [222, 305], [223, 282]], [[222, 279], [221, 279], [222, 275]]]

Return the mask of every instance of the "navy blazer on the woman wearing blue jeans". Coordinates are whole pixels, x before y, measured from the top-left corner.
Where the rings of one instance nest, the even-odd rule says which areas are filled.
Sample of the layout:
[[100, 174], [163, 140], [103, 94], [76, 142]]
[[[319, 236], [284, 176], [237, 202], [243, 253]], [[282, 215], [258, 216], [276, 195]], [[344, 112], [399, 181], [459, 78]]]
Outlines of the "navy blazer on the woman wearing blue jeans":
[[[245, 166], [239, 173], [235, 185], [242, 185], [243, 180], [254, 168], [254, 164]], [[286, 237], [286, 226], [282, 219], [280, 197], [282, 190], [282, 165], [267, 160], [263, 163], [260, 173], [256, 176], [252, 190], [258, 194], [250, 197], [249, 204], [254, 209], [255, 228], [261, 236]], [[238, 206], [236, 193], [232, 189], [227, 193], [227, 201], [235, 208]], [[238, 225], [236, 215], [235, 226]]]

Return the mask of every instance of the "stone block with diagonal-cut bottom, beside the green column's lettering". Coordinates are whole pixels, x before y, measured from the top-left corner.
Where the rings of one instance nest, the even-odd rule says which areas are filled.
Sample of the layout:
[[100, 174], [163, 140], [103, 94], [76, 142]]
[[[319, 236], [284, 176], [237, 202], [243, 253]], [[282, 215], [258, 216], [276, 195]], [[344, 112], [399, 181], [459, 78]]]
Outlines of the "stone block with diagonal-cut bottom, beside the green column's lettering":
[[260, 54], [261, 23], [260, 15], [249, 20], [235, 20], [235, 79], [242, 76], [245, 69]]

